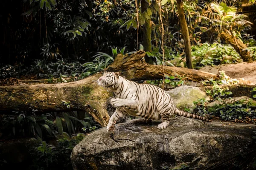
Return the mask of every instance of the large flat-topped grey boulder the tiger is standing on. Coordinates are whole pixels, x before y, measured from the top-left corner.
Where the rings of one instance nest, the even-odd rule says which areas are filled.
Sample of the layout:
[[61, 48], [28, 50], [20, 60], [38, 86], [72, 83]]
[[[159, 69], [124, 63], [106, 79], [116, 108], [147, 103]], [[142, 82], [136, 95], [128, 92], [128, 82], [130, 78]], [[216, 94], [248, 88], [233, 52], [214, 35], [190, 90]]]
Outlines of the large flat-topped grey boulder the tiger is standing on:
[[207, 167], [247, 153], [255, 125], [176, 117], [165, 130], [151, 124], [117, 124], [86, 136], [71, 154], [74, 170], [163, 170]]

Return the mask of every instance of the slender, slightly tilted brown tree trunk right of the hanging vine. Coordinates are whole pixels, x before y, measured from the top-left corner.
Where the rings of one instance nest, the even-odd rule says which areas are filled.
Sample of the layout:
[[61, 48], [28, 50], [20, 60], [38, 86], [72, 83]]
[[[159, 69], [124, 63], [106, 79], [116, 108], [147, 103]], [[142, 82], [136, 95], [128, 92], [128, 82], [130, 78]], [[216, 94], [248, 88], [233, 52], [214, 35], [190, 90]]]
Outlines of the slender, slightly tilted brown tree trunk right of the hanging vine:
[[190, 44], [190, 39], [189, 39], [189, 28], [186, 23], [182, 0], [177, 0], [177, 8], [178, 8], [178, 14], [179, 14], [178, 17], [180, 20], [181, 32], [182, 32], [184, 45], [185, 45], [186, 66], [187, 66], [187, 68], [193, 69], [194, 67], [192, 64], [191, 44]]

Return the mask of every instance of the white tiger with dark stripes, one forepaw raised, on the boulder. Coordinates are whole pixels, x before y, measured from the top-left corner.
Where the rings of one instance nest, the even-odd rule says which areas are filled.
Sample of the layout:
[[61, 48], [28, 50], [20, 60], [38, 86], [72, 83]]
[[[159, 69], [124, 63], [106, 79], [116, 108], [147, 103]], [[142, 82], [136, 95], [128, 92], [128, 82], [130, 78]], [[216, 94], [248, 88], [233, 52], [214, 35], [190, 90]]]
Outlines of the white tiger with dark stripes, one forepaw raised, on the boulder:
[[178, 116], [210, 122], [202, 116], [178, 110], [172, 98], [163, 89], [130, 81], [119, 76], [119, 72], [104, 72], [98, 79], [98, 85], [111, 89], [113, 92], [111, 105], [116, 107], [116, 111], [108, 122], [107, 131], [113, 130], [116, 121], [127, 114], [143, 118], [133, 119], [134, 123], [162, 119], [163, 122], [158, 125], [158, 129], [165, 129], [169, 125], [170, 116], [174, 113]]

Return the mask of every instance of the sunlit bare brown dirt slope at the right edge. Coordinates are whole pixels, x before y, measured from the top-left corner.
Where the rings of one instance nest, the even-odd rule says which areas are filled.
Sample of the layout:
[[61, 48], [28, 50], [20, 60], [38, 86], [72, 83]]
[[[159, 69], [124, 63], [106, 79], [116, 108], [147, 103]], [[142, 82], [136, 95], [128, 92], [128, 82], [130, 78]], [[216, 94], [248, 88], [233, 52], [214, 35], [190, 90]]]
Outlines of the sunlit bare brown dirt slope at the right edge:
[[256, 85], [256, 61], [252, 63], [240, 62], [238, 64], [223, 64], [215, 67], [206, 66], [200, 69], [213, 74], [219, 74], [218, 71], [225, 71], [226, 75], [233, 79], [244, 78]]

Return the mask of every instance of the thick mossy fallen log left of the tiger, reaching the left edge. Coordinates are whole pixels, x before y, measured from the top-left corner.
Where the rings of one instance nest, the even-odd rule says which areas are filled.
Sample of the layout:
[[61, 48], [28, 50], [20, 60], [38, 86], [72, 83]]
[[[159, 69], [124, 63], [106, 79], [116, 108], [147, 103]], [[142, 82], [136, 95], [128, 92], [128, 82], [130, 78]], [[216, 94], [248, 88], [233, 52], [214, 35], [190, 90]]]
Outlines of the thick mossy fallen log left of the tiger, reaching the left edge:
[[[32, 109], [38, 112], [87, 111], [106, 126], [109, 115], [105, 108], [110, 94], [92, 83], [100, 76], [95, 74], [70, 83], [0, 86], [0, 113]], [[69, 103], [69, 107], [62, 101]]]

